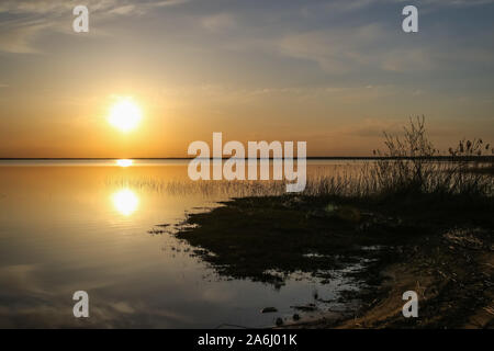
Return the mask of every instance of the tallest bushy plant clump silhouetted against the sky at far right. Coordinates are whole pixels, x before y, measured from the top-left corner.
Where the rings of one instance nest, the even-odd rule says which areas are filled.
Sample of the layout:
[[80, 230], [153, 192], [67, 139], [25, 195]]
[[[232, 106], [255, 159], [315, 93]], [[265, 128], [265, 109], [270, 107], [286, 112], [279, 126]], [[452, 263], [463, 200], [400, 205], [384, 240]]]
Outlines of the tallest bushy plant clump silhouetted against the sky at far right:
[[[473, 172], [479, 168], [483, 140], [460, 140], [456, 149], [449, 148], [450, 158], [436, 159], [439, 151], [429, 140], [425, 117], [411, 118], [404, 137], [384, 133], [384, 157], [371, 169], [371, 178], [382, 194], [438, 193], [487, 195], [493, 190], [493, 177]], [[487, 148], [489, 150], [489, 145]]]

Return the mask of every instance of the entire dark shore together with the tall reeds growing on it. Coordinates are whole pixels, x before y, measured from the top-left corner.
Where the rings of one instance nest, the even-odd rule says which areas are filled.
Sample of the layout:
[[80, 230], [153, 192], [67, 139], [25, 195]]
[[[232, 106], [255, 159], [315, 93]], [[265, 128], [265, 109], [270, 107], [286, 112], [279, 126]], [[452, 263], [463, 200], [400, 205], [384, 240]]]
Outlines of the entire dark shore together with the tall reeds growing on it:
[[[277, 287], [293, 272], [330, 280], [364, 263], [348, 272], [368, 287], [348, 293], [361, 301], [353, 318], [319, 327], [492, 327], [490, 145], [461, 140], [440, 156], [424, 118], [384, 143], [357, 176], [312, 179], [297, 195], [232, 199], [191, 214], [176, 235], [221, 275]], [[422, 292], [416, 324], [400, 314], [407, 290]]]

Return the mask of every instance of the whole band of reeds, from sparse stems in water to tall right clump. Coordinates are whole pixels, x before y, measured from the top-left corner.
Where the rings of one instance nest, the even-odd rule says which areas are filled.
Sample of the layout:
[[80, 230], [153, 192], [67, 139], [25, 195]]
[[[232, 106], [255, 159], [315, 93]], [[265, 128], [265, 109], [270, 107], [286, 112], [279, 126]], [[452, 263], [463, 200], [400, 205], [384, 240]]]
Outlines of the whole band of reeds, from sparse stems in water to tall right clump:
[[[384, 150], [374, 150], [377, 160], [357, 168], [325, 167], [307, 174], [304, 192], [299, 195], [353, 199], [403, 199], [411, 196], [492, 199], [494, 191], [493, 156], [482, 139], [460, 140], [449, 155], [441, 155], [430, 141], [425, 118], [411, 118], [403, 135], [384, 133]], [[112, 185], [133, 186], [172, 195], [245, 197], [287, 195], [285, 181], [191, 181], [155, 178], [113, 179]]]

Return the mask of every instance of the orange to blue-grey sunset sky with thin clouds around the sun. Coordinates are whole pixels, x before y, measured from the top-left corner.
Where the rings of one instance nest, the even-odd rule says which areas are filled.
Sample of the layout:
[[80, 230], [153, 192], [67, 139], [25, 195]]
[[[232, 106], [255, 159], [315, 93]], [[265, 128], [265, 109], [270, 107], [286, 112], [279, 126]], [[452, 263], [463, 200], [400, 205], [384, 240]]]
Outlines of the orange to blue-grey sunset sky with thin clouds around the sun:
[[[123, 98], [128, 133], [108, 123]], [[3, 158], [184, 157], [213, 132], [369, 156], [416, 115], [441, 150], [494, 143], [494, 0], [0, 2]]]

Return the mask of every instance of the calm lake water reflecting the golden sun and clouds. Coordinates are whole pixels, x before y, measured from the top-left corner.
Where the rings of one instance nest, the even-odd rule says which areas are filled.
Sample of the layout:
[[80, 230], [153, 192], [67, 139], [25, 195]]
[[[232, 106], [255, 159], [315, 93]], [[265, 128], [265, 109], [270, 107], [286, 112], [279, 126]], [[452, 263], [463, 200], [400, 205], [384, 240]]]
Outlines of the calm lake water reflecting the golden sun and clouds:
[[[346, 163], [310, 161], [308, 171]], [[225, 200], [155, 186], [187, 179], [187, 161], [0, 161], [0, 327], [262, 327], [315, 291], [332, 299], [348, 287], [225, 280], [173, 236], [149, 235]], [[72, 316], [76, 291], [89, 294], [89, 318]], [[267, 306], [279, 313], [260, 314]]]

